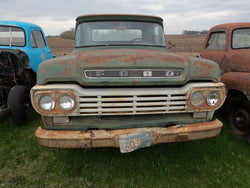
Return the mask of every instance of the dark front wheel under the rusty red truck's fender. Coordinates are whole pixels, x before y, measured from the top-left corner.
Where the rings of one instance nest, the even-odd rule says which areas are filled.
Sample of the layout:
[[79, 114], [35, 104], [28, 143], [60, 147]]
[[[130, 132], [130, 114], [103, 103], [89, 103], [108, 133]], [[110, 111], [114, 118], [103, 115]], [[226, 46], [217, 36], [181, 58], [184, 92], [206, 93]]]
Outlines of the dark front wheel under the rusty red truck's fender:
[[242, 95], [231, 98], [226, 106], [226, 123], [241, 138], [250, 139], [250, 103]]

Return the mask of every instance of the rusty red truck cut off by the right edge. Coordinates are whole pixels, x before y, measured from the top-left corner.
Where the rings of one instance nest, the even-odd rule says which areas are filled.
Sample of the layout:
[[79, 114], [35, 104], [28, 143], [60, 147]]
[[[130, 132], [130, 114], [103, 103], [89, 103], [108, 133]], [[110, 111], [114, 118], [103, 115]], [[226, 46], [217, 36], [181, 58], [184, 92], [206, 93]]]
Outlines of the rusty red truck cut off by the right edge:
[[226, 84], [225, 120], [232, 130], [250, 141], [250, 23], [229, 23], [211, 28], [202, 58], [217, 62]]

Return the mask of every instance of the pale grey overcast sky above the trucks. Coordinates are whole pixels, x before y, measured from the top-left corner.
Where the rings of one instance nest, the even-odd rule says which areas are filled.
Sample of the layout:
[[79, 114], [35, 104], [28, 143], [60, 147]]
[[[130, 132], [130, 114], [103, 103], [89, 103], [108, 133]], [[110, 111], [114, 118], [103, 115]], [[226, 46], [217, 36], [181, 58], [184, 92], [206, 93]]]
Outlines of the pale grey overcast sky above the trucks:
[[166, 34], [208, 30], [228, 22], [250, 22], [249, 0], [0, 0], [0, 20], [40, 25], [59, 35], [85, 14], [122, 13], [160, 16]]

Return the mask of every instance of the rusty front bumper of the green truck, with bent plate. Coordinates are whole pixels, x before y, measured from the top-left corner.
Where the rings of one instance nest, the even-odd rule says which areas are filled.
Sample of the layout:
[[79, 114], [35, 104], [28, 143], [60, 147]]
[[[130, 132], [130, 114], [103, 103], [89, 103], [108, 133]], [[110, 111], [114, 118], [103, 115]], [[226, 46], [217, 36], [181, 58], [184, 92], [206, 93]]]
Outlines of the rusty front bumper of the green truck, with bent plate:
[[[167, 142], [182, 142], [189, 140], [199, 140], [204, 138], [215, 137], [220, 134], [223, 124], [219, 120], [205, 123], [183, 124], [171, 127], [150, 127], [150, 128], [134, 128], [119, 130], [87, 130], [87, 131], [55, 131], [45, 130], [39, 127], [35, 133], [41, 146], [51, 148], [96, 148], [96, 147], [118, 147], [121, 152], [130, 152], [140, 147], [148, 147], [151, 145]], [[150, 143], [143, 145], [143, 135], [149, 133]], [[131, 137], [132, 136], [132, 137]], [[121, 140], [124, 137], [130, 139], [131, 147], [122, 148], [124, 146]], [[135, 138], [140, 138], [137, 144]]]

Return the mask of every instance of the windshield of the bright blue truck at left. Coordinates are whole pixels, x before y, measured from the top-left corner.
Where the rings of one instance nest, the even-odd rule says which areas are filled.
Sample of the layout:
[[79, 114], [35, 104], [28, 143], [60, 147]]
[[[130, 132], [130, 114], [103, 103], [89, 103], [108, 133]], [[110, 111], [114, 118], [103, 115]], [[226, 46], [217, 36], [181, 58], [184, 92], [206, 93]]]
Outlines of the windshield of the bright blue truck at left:
[[0, 26], [1, 46], [25, 46], [24, 30], [19, 27]]

